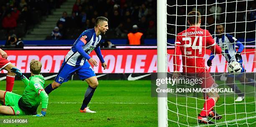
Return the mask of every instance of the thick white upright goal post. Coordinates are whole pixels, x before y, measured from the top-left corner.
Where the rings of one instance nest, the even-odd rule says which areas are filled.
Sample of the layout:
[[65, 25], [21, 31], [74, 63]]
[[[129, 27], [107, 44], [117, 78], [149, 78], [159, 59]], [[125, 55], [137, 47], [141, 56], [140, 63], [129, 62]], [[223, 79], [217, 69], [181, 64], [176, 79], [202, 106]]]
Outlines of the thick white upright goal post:
[[[167, 22], [166, 22], [166, 0], [157, 0], [157, 72], [167, 73]], [[158, 75], [159, 77], [159, 75]], [[166, 84], [165, 84], [166, 85]], [[162, 86], [161, 87], [167, 87]], [[161, 93], [159, 93], [161, 94]], [[168, 126], [167, 96], [159, 97], [158, 94], [158, 127]]]

